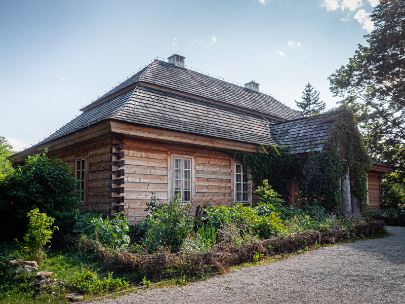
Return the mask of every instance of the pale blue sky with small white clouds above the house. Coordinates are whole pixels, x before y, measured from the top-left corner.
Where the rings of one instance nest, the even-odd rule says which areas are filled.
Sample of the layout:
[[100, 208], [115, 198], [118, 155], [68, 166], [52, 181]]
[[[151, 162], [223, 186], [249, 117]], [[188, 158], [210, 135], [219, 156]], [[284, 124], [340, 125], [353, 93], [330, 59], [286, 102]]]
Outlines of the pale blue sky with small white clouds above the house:
[[260, 89], [296, 108], [348, 63], [378, 0], [0, 0], [0, 136], [15, 150], [155, 57]]

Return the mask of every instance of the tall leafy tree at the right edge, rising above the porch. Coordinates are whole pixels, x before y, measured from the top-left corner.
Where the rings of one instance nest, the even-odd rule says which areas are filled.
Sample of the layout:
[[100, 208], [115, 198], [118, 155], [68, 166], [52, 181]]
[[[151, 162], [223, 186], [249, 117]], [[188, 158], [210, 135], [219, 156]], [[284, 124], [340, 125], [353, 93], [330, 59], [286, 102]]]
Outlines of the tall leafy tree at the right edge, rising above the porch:
[[349, 63], [330, 77], [331, 91], [355, 112], [369, 153], [396, 168], [405, 183], [405, 2], [380, 0], [375, 29]]

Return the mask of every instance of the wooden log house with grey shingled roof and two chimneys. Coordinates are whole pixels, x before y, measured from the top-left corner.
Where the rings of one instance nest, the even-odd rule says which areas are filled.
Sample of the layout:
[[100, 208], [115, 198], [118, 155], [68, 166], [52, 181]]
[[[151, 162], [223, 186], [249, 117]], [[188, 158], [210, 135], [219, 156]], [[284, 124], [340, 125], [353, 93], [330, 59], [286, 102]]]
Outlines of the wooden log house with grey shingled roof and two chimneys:
[[[104, 214], [145, 217], [151, 192], [163, 201], [252, 204], [248, 179], [229, 150], [290, 145], [305, 155], [322, 149], [328, 124], [259, 91], [188, 69], [184, 57], [154, 60], [42, 142], [11, 157], [21, 163], [48, 148], [74, 168], [81, 204]], [[381, 173], [370, 172], [370, 208], [381, 204]], [[84, 190], [84, 192], [83, 192]], [[378, 193], [378, 194], [377, 194]]]

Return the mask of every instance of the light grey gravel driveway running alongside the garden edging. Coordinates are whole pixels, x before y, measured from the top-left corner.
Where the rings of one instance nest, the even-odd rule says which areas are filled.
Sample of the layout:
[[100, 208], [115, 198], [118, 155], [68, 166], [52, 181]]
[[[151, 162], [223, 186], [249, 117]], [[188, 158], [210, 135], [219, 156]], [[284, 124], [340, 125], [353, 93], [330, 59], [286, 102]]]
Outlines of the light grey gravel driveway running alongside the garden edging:
[[405, 227], [387, 229], [386, 238], [92, 303], [405, 303]]

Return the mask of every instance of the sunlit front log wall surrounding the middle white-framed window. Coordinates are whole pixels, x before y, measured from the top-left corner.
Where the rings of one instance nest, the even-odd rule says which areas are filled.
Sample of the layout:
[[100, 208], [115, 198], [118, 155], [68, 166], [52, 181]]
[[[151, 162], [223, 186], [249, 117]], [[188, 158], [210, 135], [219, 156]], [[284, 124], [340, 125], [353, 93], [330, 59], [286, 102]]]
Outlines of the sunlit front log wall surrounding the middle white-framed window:
[[192, 197], [196, 204], [233, 204], [233, 160], [220, 150], [125, 139], [125, 214], [131, 222], [145, 218], [151, 192], [162, 200], [171, 198], [173, 156], [192, 157]]

